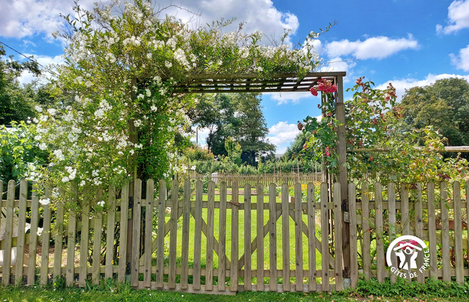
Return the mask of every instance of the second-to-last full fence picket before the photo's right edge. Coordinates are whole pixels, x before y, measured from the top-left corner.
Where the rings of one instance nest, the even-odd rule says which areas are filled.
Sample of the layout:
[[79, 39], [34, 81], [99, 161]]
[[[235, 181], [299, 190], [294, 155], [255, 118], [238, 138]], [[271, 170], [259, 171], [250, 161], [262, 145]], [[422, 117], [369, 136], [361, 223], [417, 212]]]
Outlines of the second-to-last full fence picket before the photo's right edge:
[[440, 183], [441, 196], [441, 265], [443, 266], [443, 281], [451, 281], [451, 262], [449, 260], [449, 221], [448, 209], [446, 208], [446, 199], [448, 198], [448, 184], [443, 181]]

